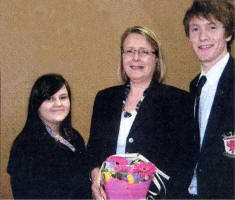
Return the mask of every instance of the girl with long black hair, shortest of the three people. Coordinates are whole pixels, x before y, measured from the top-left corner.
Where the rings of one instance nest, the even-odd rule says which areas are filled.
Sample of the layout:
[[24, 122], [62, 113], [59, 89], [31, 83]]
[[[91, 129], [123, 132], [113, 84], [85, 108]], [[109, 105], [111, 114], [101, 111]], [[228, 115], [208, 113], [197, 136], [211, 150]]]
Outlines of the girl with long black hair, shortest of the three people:
[[71, 92], [58, 74], [34, 84], [25, 126], [15, 139], [7, 171], [15, 199], [89, 196], [84, 140], [71, 125]]

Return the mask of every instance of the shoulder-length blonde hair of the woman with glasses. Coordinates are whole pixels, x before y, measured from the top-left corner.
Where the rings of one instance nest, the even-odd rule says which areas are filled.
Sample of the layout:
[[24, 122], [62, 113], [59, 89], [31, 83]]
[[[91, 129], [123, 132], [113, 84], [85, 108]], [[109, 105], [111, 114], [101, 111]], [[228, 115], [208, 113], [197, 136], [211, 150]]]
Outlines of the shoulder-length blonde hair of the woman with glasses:
[[158, 62], [156, 63], [153, 77], [159, 83], [161, 83], [164, 80], [165, 75], [166, 75], [166, 67], [165, 67], [165, 63], [163, 62], [163, 57], [162, 57], [162, 53], [160, 50], [160, 41], [158, 40], [156, 34], [152, 30], [146, 27], [142, 27], [142, 26], [133, 26], [133, 27], [127, 28], [126, 31], [122, 34], [121, 46], [120, 46], [121, 63], [120, 63], [120, 68], [119, 68], [121, 80], [125, 83], [129, 79], [124, 71], [122, 54], [123, 54], [123, 44], [125, 42], [125, 39], [131, 33], [137, 33], [137, 34], [143, 35], [146, 38], [146, 40], [150, 43], [154, 51], [156, 52], [155, 55], [158, 58]]

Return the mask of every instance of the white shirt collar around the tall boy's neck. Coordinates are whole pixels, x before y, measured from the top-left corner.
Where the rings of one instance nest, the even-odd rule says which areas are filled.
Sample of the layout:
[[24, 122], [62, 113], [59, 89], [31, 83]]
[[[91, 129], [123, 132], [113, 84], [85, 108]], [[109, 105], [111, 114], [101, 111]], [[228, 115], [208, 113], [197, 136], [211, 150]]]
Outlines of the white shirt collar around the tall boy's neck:
[[[224, 71], [224, 68], [229, 60], [229, 53], [227, 53], [220, 61], [218, 61], [207, 73], [203, 71], [201, 66], [201, 76], [206, 76], [208, 84], [215, 84], [219, 81], [219, 78]], [[200, 79], [199, 78], [199, 79]]]

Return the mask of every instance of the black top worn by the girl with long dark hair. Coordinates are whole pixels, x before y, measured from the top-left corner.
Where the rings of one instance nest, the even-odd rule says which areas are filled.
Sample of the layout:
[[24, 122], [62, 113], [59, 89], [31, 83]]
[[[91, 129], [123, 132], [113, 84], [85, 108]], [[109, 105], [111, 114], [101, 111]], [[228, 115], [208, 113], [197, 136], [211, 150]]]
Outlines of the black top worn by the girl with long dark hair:
[[7, 168], [14, 198], [86, 198], [87, 155], [83, 138], [74, 129], [70, 143], [75, 152], [56, 142], [46, 131], [21, 132], [12, 146]]

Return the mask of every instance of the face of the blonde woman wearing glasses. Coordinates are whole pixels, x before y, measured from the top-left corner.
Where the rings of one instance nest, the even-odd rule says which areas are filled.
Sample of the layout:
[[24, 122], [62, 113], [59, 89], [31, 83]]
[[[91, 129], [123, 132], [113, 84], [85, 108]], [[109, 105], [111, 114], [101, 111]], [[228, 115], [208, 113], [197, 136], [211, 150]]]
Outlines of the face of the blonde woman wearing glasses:
[[131, 33], [123, 43], [123, 67], [131, 82], [150, 83], [158, 58], [143, 35]]

